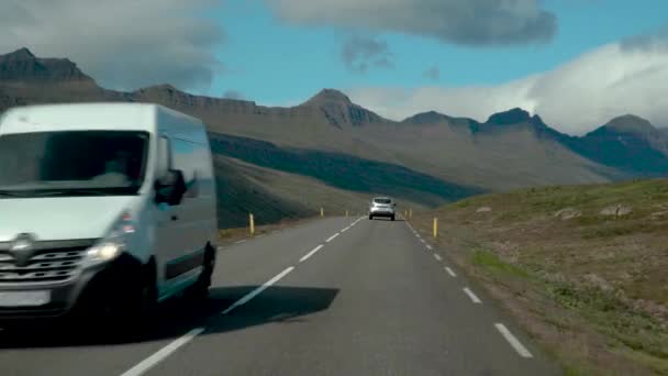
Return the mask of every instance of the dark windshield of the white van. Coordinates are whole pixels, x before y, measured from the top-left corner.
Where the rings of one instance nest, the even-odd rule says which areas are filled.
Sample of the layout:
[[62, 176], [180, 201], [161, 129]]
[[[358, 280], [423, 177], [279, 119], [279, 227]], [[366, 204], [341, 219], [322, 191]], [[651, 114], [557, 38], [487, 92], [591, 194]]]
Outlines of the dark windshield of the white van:
[[136, 195], [148, 133], [65, 131], [0, 136], [0, 198]]

